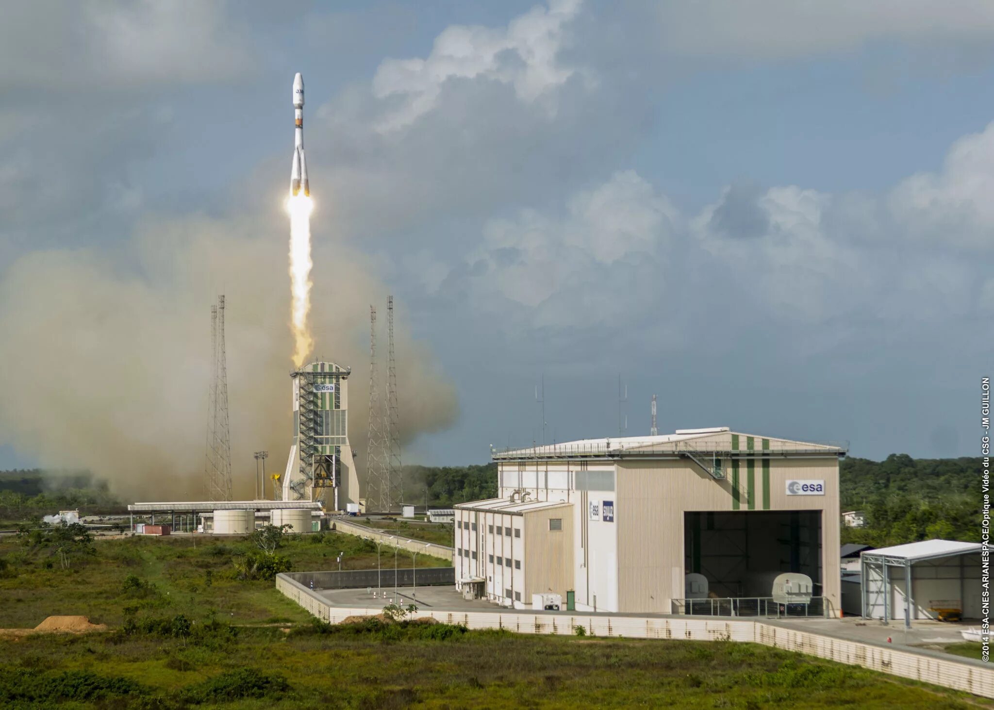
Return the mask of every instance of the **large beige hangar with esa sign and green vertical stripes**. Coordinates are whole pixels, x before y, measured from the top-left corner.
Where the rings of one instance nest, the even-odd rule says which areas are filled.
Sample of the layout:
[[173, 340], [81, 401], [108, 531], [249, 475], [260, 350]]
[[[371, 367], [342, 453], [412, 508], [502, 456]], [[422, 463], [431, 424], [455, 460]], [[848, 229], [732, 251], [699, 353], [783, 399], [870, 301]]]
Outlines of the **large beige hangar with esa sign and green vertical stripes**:
[[770, 598], [801, 573], [841, 616], [845, 452], [724, 427], [494, 452], [499, 497], [455, 506], [457, 586], [518, 609], [551, 595], [671, 614], [688, 597]]

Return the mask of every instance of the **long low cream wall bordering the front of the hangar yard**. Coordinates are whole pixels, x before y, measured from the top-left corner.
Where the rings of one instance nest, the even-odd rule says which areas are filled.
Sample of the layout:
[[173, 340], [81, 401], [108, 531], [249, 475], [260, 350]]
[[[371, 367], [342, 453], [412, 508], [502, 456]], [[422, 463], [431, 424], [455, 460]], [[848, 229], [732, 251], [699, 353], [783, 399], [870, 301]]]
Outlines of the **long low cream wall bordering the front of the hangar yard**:
[[[333, 607], [285, 574], [276, 576], [276, 589], [318, 619], [329, 623], [338, 623], [353, 616], [372, 616], [382, 611], [361, 607]], [[785, 628], [775, 625], [775, 622], [569, 613], [462, 613], [433, 609], [419, 611], [417, 614], [444, 623], [458, 623], [467, 628], [506, 628], [518, 633], [572, 634], [578, 626], [582, 626], [587, 633], [597, 636], [749, 641], [994, 698], [994, 668], [981, 661], [953, 658], [936, 651], [912, 652], [835, 638]]]

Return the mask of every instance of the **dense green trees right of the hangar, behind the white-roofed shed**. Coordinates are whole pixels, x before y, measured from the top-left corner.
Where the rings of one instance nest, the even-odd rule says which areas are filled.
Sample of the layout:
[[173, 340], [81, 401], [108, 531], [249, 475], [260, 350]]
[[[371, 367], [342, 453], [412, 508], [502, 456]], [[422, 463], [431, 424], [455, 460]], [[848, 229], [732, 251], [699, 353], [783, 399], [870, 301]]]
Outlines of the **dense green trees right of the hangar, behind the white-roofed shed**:
[[842, 509], [863, 510], [864, 528], [842, 529], [842, 542], [874, 547], [916, 540], [980, 540], [980, 458], [846, 458], [840, 464]]

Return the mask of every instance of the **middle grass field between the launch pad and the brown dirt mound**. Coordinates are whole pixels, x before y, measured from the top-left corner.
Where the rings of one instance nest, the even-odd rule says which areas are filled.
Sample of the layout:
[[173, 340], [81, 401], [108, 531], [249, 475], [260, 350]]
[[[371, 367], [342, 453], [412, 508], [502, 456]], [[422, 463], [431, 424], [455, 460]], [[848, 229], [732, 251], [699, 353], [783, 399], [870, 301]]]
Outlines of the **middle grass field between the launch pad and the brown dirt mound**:
[[[194, 627], [213, 618], [238, 624], [307, 619], [276, 592], [271, 577], [265, 580], [264, 570], [246, 574], [249, 558], [270, 557], [248, 537], [135, 536], [88, 543], [78, 538], [74, 544], [83, 547], [68, 551], [63, 567], [59, 546], [73, 530], [0, 538], [0, 627], [34, 627], [52, 615], [81, 615], [114, 627], [129, 618], [140, 623], [178, 615]], [[337, 570], [339, 553], [344, 553], [343, 570], [377, 566], [376, 545], [336, 532], [285, 536], [272, 557], [284, 558], [295, 570]], [[382, 555], [383, 565], [393, 567], [394, 551], [384, 547]], [[417, 564], [450, 563], [418, 555]]]

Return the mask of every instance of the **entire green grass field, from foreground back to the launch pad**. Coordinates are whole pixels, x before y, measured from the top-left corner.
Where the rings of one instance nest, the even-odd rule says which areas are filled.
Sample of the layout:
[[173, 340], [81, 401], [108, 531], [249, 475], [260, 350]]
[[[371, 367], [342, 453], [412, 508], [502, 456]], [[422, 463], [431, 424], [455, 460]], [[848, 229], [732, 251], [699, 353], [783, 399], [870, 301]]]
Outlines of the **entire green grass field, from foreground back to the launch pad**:
[[[341, 533], [290, 538], [294, 569], [376, 566]], [[52, 564], [0, 540], [0, 626], [84, 615], [111, 630], [0, 639], [4, 708], [968, 708], [976, 699], [734, 642], [329, 626], [232, 574], [244, 539], [133, 537]], [[384, 562], [392, 551], [384, 550]], [[427, 566], [443, 561], [418, 557]], [[393, 560], [391, 559], [392, 563]]]

